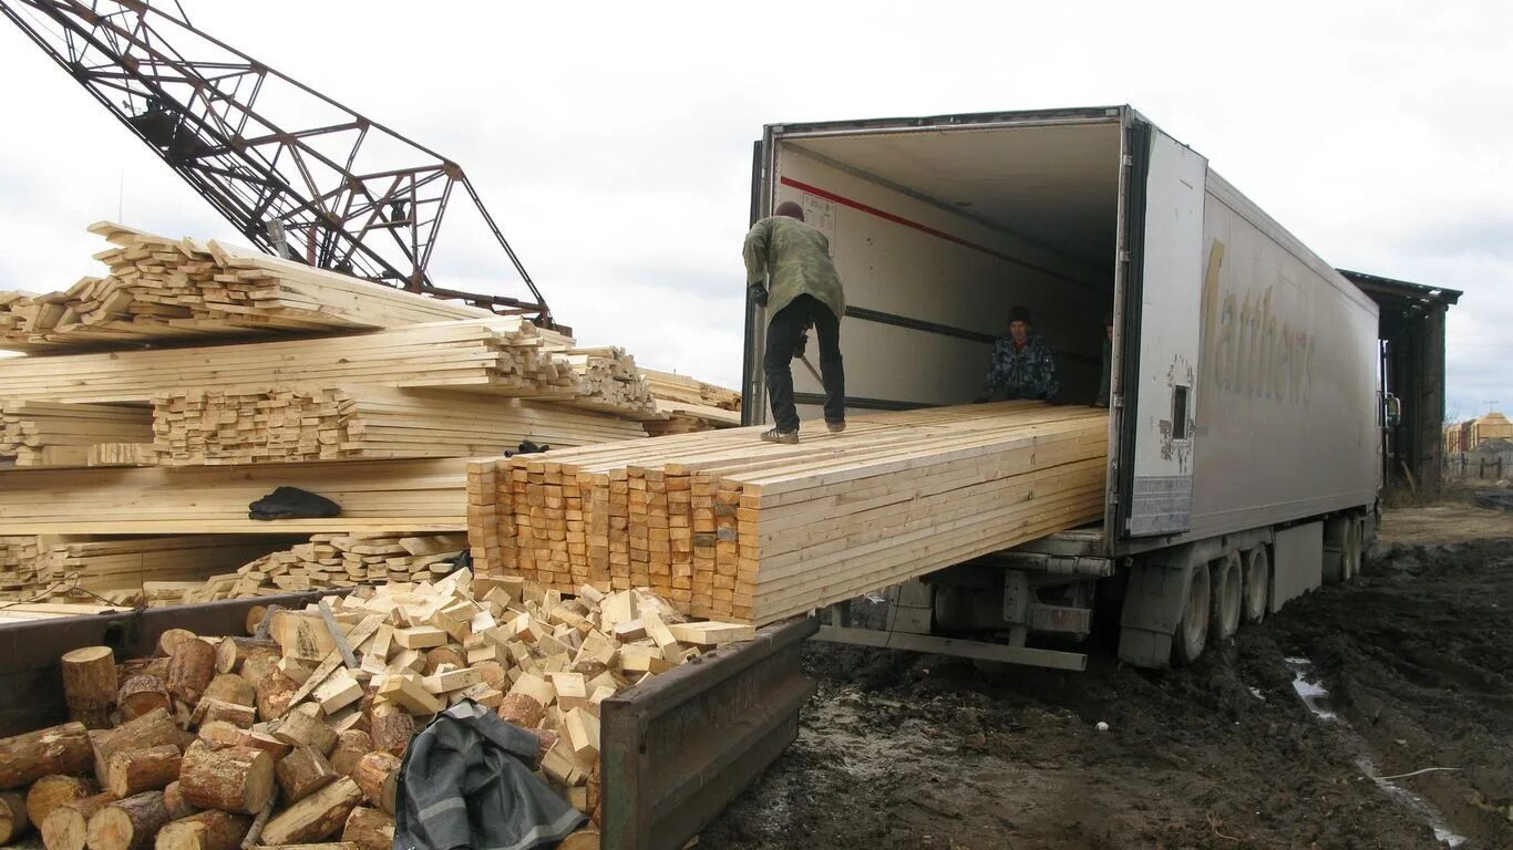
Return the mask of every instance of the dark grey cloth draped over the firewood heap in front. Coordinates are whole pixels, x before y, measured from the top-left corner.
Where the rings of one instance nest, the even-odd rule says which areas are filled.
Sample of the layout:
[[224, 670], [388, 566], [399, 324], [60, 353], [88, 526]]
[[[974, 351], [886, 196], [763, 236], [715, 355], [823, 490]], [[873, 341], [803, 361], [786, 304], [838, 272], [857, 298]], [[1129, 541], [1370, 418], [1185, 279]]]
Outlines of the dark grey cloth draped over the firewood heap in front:
[[589, 818], [531, 774], [537, 741], [464, 699], [410, 741], [399, 767], [395, 850], [531, 850]]

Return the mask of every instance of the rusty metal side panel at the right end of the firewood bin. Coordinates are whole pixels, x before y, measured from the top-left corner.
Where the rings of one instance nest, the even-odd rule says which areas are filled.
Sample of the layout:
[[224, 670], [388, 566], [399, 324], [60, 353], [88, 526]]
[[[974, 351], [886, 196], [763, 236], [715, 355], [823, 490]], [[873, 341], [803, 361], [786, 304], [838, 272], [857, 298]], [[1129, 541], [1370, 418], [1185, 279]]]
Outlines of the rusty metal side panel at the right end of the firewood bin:
[[799, 735], [803, 617], [604, 700], [604, 850], [678, 850]]

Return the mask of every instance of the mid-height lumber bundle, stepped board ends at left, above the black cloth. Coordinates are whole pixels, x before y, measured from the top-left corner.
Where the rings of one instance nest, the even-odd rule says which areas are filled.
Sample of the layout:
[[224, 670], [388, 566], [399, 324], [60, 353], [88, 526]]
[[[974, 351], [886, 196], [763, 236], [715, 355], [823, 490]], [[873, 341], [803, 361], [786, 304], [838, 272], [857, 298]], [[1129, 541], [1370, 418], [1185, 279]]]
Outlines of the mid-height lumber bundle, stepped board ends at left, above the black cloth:
[[635, 422], [540, 402], [375, 386], [180, 389], [153, 398], [151, 428], [157, 463], [171, 466], [492, 455], [525, 440], [645, 436]]

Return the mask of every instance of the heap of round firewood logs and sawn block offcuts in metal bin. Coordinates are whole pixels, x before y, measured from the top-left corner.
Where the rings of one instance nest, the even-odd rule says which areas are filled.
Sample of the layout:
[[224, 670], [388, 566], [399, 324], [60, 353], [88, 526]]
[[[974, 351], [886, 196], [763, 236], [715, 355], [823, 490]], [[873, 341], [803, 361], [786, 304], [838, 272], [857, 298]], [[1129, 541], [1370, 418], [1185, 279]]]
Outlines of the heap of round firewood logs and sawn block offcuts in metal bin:
[[530, 767], [590, 817], [563, 847], [598, 847], [604, 700], [752, 637], [645, 590], [567, 599], [466, 572], [268, 626], [172, 629], [159, 656], [121, 664], [109, 647], [64, 655], [73, 720], [0, 740], [0, 844], [36, 829], [47, 850], [389, 850], [410, 740], [471, 699], [534, 735]]

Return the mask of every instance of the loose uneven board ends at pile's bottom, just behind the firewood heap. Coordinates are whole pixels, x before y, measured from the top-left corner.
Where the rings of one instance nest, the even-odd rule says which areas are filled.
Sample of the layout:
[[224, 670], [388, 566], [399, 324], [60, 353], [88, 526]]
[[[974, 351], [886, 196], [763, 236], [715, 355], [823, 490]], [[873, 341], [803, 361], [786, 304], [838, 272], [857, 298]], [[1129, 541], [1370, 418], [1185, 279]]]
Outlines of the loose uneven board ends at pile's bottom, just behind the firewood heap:
[[439, 579], [455, 569], [452, 561], [466, 549], [466, 534], [315, 534], [309, 543], [263, 555], [235, 573], [185, 587], [177, 597], [160, 594], [157, 602], [216, 602]]

